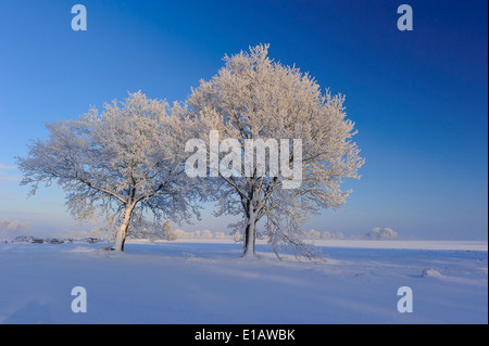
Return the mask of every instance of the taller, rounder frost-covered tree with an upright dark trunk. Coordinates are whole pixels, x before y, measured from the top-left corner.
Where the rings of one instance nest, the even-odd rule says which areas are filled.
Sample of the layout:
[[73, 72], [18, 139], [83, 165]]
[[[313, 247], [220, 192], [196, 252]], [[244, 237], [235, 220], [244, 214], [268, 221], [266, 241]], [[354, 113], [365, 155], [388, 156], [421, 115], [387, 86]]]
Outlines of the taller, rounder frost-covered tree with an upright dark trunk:
[[[276, 253], [292, 248], [310, 257], [314, 253], [302, 241], [303, 221], [322, 208], [337, 208], [346, 202], [350, 191], [341, 191], [342, 179], [359, 178], [363, 159], [351, 141], [355, 131], [346, 119], [344, 98], [322, 92], [309, 74], [274, 62], [267, 53], [268, 46], [260, 44], [249, 52], [225, 55], [225, 66], [211, 80], [201, 80], [187, 103], [190, 117], [201, 121], [201, 140], [210, 143], [215, 130], [224, 141], [230, 139], [217, 154], [208, 145], [211, 177], [216, 174], [215, 155], [228, 168], [229, 161], [247, 162], [246, 153], [250, 148], [254, 151], [251, 141], [269, 144], [263, 155], [277, 150], [269, 139], [280, 141], [278, 157], [286, 165], [281, 164], [279, 175], [272, 159], [261, 169], [252, 158], [254, 168], [233, 166], [224, 174], [221, 168], [214, 179], [216, 214], [242, 216], [235, 227], [243, 235], [244, 256], [254, 255], [256, 226], [264, 220], [264, 233]], [[281, 139], [290, 144], [284, 148], [287, 142]], [[296, 150], [296, 140], [302, 150]]]

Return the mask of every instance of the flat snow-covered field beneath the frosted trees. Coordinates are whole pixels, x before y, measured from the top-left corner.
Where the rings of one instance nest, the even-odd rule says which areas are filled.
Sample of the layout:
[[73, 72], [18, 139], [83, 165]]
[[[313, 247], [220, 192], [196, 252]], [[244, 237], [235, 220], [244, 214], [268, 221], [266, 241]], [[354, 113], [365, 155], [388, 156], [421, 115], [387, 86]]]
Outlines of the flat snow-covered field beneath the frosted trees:
[[317, 244], [318, 264], [226, 241], [0, 244], [0, 323], [488, 323], [487, 242]]

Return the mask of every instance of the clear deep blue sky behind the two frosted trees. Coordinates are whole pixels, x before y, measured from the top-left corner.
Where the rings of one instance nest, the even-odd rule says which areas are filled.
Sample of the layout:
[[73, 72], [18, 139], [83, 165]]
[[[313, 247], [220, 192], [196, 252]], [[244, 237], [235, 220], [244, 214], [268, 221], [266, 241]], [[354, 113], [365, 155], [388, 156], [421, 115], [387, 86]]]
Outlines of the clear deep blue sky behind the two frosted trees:
[[[74, 31], [71, 8], [87, 9]], [[400, 31], [397, 8], [413, 8]], [[57, 188], [26, 200], [14, 156], [75, 118], [142, 90], [185, 100], [224, 54], [269, 43], [269, 55], [347, 95], [365, 157], [339, 212], [306, 228], [403, 238], [487, 240], [487, 1], [14, 1], [0, 2], [0, 219], [76, 229]], [[184, 229], [225, 230], [204, 214]], [[82, 228], [90, 228], [84, 225]]]

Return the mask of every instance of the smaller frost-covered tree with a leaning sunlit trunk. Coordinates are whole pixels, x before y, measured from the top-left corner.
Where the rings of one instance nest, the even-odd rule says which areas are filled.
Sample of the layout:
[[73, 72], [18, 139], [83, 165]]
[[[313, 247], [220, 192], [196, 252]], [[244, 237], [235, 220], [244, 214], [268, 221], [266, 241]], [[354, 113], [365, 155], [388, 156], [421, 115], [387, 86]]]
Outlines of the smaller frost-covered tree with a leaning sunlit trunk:
[[80, 220], [105, 215], [118, 222], [113, 249], [124, 251], [129, 225], [148, 229], [163, 217], [188, 220], [198, 214], [192, 179], [184, 174], [184, 148], [191, 121], [183, 107], [129, 93], [99, 114], [96, 107], [75, 120], [47, 124], [48, 140], [28, 144], [17, 157], [21, 184], [34, 195], [40, 183], [66, 192], [66, 205]]

